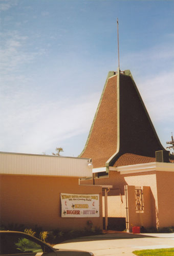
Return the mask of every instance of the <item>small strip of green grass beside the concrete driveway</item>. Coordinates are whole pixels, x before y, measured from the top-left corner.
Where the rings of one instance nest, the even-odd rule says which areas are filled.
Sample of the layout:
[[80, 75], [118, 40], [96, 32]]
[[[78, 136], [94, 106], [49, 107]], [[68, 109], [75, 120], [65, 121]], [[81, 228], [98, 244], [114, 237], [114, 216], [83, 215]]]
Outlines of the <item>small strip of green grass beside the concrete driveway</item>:
[[174, 256], [174, 248], [133, 251], [139, 256]]

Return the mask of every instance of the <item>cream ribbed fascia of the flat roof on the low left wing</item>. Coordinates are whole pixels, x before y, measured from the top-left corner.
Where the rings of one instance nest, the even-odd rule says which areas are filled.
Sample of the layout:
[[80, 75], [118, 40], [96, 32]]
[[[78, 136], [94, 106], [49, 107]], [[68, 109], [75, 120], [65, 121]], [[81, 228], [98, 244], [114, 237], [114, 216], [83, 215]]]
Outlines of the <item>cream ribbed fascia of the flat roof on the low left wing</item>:
[[88, 158], [0, 152], [0, 173], [92, 177]]

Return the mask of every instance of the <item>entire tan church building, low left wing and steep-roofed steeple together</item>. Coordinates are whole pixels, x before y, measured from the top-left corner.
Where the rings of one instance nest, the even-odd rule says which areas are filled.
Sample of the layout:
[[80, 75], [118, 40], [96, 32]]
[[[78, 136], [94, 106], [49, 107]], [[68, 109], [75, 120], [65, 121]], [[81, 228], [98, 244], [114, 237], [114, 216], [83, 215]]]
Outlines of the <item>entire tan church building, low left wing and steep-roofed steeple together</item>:
[[[174, 156], [161, 145], [129, 70], [108, 73], [79, 157], [0, 153], [1, 221], [79, 229], [89, 220], [102, 228], [104, 217], [110, 229], [174, 226]], [[67, 211], [61, 194], [92, 195], [98, 208], [72, 203]], [[67, 217], [81, 212], [89, 216]]]

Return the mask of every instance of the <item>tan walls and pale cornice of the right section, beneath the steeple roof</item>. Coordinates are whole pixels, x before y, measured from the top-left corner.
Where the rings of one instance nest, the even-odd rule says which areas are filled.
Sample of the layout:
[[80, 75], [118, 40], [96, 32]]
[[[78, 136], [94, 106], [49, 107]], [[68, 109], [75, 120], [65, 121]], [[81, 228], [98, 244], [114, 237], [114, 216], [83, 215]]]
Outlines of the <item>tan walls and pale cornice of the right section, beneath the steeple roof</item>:
[[[133, 226], [158, 228], [174, 225], [173, 164], [152, 162], [127, 165], [111, 168], [107, 176], [100, 176], [100, 173], [94, 175], [94, 180], [81, 183], [113, 185], [107, 194], [110, 229], [120, 229], [120, 221], [121, 228], [125, 222], [125, 228], [129, 231]], [[103, 217], [104, 208], [103, 194]]]

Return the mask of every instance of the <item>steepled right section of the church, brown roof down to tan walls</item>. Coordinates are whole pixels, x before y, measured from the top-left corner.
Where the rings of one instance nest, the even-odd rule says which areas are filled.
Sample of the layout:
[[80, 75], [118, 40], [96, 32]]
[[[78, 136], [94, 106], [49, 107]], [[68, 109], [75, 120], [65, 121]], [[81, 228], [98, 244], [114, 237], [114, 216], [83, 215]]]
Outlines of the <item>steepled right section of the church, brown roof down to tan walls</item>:
[[81, 184], [113, 186], [105, 228], [117, 229], [121, 219], [130, 231], [174, 226], [174, 157], [161, 145], [129, 70], [108, 73], [80, 156], [94, 165], [93, 179]]

